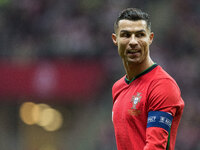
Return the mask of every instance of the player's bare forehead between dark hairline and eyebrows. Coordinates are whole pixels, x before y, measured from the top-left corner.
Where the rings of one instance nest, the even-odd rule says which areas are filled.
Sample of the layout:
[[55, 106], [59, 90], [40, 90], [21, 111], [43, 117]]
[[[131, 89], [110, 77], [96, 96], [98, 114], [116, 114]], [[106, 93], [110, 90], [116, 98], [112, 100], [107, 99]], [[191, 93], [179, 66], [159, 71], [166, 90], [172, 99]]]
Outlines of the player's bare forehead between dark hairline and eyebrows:
[[127, 30], [127, 31], [147, 31], [147, 23], [145, 20], [120, 20], [118, 23], [118, 31]]

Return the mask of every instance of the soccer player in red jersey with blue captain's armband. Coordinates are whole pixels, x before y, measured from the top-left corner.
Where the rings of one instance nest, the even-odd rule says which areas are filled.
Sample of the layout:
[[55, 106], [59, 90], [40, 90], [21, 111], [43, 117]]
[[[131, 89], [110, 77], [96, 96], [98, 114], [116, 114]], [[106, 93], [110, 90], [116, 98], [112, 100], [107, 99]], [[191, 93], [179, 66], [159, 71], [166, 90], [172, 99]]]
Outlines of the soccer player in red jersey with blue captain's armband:
[[112, 89], [112, 119], [118, 150], [174, 150], [184, 102], [175, 80], [150, 57], [149, 15], [127, 8], [114, 24], [126, 75]]

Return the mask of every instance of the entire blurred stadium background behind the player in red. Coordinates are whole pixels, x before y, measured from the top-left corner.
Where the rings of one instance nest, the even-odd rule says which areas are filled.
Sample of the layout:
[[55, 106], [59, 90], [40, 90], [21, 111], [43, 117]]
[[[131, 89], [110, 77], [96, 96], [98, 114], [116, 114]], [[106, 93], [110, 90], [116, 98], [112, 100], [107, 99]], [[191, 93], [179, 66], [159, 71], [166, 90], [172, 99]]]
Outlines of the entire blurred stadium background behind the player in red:
[[0, 149], [114, 150], [113, 22], [147, 11], [154, 61], [185, 100], [176, 150], [200, 150], [200, 1], [0, 0]]

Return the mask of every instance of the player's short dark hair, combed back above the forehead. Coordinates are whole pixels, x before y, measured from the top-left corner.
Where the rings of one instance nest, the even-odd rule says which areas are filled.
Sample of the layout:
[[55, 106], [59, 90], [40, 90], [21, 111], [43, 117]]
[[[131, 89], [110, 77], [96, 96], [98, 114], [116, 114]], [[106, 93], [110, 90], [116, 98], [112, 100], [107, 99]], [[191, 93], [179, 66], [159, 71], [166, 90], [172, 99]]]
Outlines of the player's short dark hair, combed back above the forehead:
[[123, 19], [133, 20], [133, 21], [145, 20], [147, 23], [147, 28], [151, 30], [151, 22], [150, 22], [149, 14], [147, 14], [146, 12], [143, 12], [141, 9], [138, 9], [138, 8], [126, 8], [120, 12], [117, 20], [114, 23], [115, 33], [117, 31], [119, 21]]

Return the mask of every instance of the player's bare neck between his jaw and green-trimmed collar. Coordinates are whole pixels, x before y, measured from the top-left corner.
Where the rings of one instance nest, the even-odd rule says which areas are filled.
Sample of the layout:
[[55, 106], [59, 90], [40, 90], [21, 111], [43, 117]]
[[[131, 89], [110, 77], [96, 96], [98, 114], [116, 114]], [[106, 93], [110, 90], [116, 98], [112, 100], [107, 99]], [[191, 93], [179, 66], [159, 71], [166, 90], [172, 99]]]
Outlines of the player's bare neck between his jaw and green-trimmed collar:
[[131, 62], [125, 62], [123, 61], [124, 68], [127, 74], [127, 79], [132, 80], [135, 78], [138, 74], [142, 73], [147, 68], [151, 67], [154, 62], [149, 58], [146, 61], [143, 61], [142, 63], [135, 64]]

